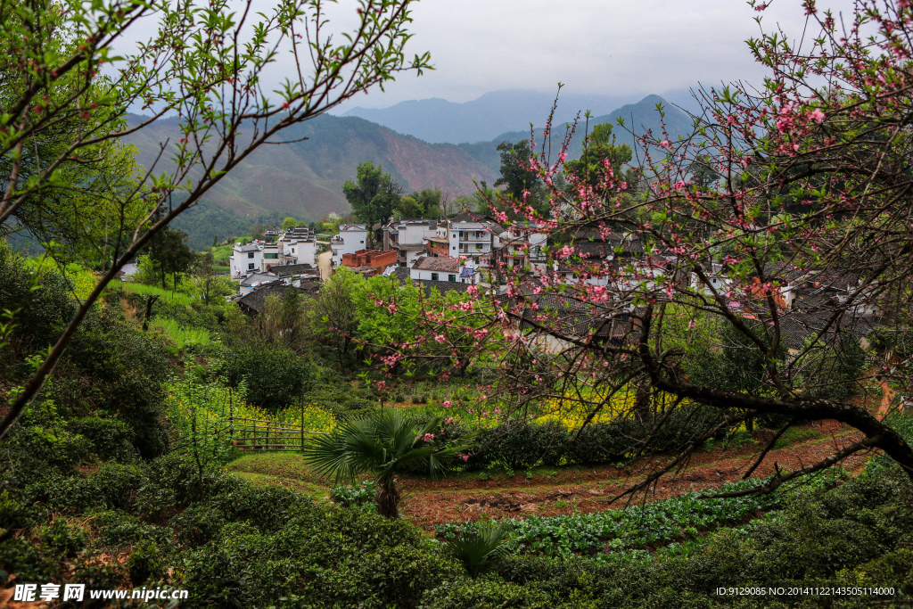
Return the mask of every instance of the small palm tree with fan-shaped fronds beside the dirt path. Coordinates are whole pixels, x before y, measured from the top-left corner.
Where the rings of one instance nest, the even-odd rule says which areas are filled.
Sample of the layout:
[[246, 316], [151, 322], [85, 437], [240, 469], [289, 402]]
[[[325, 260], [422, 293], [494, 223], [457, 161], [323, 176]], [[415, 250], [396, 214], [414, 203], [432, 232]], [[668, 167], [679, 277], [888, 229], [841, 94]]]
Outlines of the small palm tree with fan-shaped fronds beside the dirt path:
[[377, 482], [374, 500], [378, 513], [399, 518], [398, 475], [420, 468], [434, 478], [446, 470], [456, 453], [472, 446], [470, 436], [433, 444], [434, 432], [442, 426], [436, 417], [418, 427], [400, 410], [388, 408], [317, 436], [305, 447], [304, 456], [324, 478], [353, 482], [359, 475], [372, 473]]

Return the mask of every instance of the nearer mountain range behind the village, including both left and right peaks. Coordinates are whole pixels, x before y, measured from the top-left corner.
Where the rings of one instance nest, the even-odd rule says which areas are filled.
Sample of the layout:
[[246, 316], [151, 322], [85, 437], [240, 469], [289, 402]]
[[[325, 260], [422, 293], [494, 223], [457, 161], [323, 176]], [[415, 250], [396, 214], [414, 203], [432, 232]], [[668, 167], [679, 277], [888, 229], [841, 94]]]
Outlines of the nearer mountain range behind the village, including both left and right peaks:
[[[656, 103], [662, 101], [658, 96], [647, 96], [597, 116], [590, 124], [623, 118], [638, 133], [645, 129], [656, 131]], [[418, 115], [415, 118], [421, 120]], [[135, 124], [141, 119], [131, 116], [130, 122]], [[479, 121], [488, 119], [480, 115]], [[687, 114], [671, 106], [666, 108], [666, 129], [670, 134], [685, 133], [689, 127]], [[555, 131], [558, 142], [553, 145], [560, 143], [564, 132]], [[570, 158], [580, 151], [582, 132], [581, 127], [569, 149]], [[615, 133], [619, 142], [633, 142], [629, 133], [617, 127]], [[158, 155], [159, 142], [176, 142], [179, 137], [177, 121], [163, 119], [136, 131], [125, 141], [139, 151], [138, 163], [150, 167]], [[492, 184], [497, 179], [498, 143], [529, 139], [530, 131], [504, 131], [475, 143], [432, 143], [356, 116], [323, 114], [282, 131], [281, 137], [289, 143], [261, 146], [216, 184], [195, 213], [191, 210], [177, 226], [191, 229], [194, 239], [211, 242], [214, 234], [237, 234], [256, 221], [272, 224], [293, 215], [307, 222], [330, 212], [346, 213], [350, 207], [341, 185], [354, 178], [358, 164], [364, 161], [382, 165], [383, 171], [391, 173], [407, 192], [434, 187], [450, 196], [471, 193], [475, 183], [484, 180]], [[536, 137], [541, 138], [541, 130], [536, 131]], [[167, 156], [163, 154], [163, 158]], [[166, 169], [159, 165], [155, 171]], [[191, 220], [193, 227], [187, 226]], [[204, 236], [196, 235], [200, 230], [205, 231]]]

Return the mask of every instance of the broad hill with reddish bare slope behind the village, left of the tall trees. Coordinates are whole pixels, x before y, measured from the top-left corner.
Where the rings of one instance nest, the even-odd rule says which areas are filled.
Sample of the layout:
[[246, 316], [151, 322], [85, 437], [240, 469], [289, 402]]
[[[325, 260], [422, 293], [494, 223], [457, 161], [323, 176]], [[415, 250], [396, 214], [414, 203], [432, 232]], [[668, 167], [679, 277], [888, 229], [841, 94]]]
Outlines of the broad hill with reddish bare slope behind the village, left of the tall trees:
[[[132, 116], [131, 122], [139, 119]], [[159, 142], [178, 141], [176, 127], [173, 119], [156, 121], [126, 138], [137, 147], [143, 167], [152, 167]], [[258, 149], [216, 184], [204, 203], [224, 207], [248, 225], [274, 215], [313, 221], [349, 210], [341, 184], [363, 161], [381, 164], [407, 190], [436, 187], [451, 195], [472, 192], [473, 180], [490, 182], [497, 175], [497, 164], [481, 163], [456, 146], [429, 144], [354, 117], [324, 114], [289, 128], [281, 141], [291, 143]]]

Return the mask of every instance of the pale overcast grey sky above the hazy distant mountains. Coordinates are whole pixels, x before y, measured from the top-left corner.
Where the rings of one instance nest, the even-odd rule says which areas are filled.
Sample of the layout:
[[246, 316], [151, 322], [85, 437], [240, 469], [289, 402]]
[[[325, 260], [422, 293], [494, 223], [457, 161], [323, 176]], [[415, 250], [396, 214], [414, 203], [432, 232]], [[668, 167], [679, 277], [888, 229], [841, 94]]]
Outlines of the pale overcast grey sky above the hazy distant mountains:
[[740, 0], [421, 0], [409, 50], [430, 51], [436, 70], [401, 76], [349, 106], [462, 102], [494, 90], [554, 91], [559, 81], [566, 93], [637, 97], [760, 80], [745, 44], [760, 34], [756, 16], [765, 30], [802, 35], [800, 0], [774, 0], [762, 13]]

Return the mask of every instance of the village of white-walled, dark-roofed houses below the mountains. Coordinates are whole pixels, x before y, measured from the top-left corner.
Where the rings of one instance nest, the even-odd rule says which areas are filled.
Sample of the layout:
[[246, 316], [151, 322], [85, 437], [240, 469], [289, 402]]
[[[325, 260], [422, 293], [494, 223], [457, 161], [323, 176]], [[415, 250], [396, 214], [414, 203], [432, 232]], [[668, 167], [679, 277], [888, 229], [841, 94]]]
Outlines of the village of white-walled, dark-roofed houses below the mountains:
[[[725, 294], [733, 283], [727, 267], [710, 261], [703, 277], [694, 271], [674, 269], [677, 255], [668, 250], [645, 255], [639, 236], [632, 233], [582, 230], [572, 235], [552, 236], [534, 222], [498, 223], [487, 215], [464, 210], [449, 219], [391, 219], [385, 225], [374, 225], [372, 234], [364, 224], [342, 224], [331, 236], [329, 249], [319, 254], [321, 245], [312, 229], [296, 227], [270, 231], [265, 239], [235, 244], [229, 258], [231, 278], [238, 281], [238, 292], [229, 297], [252, 315], [264, 312], [268, 294], [280, 294], [287, 287], [302, 294], [320, 292], [320, 283], [340, 267], [369, 278], [376, 275], [398, 282], [408, 281], [425, 292], [465, 292], [477, 286], [498, 296], [511, 293], [528, 297], [536, 306], [558, 311], [561, 318], [572, 319], [572, 333], [585, 336], [601, 325], [603, 308], [554, 294], [539, 296], [540, 278], [557, 278], [569, 286], [605, 289], [611, 299], [635, 310], [630, 301], [638, 289], [653, 289], [654, 278], [675, 275], [683, 288], [710, 295]], [[370, 238], [369, 238], [370, 237]], [[374, 245], [375, 248], [368, 248]], [[582, 257], [582, 265], [563, 264], [551, 257], [549, 248], [570, 247], [573, 255]], [[568, 256], [565, 256], [568, 257]], [[322, 258], [322, 266], [320, 265]], [[628, 265], [630, 268], [625, 269]], [[829, 337], [837, 329], [831, 326], [834, 311], [842, 310], [851, 295], [854, 305], [846, 311], [842, 331], [863, 341], [868, 349], [870, 338], [880, 318], [874, 295], [868, 287], [857, 293], [860, 276], [852, 270], [834, 268], [797, 268], [791, 264], [770, 263], [763, 269], [763, 282], [774, 283], [775, 299], [782, 307], [779, 323], [788, 352], [802, 352], [811, 338]], [[754, 319], [751, 300], [762, 296], [761, 277], [755, 273], [748, 289], [745, 306], [735, 303], [747, 319]], [[872, 298], [867, 298], [872, 296]], [[757, 303], [755, 303], [757, 304]], [[526, 309], [524, 316], [530, 316]], [[588, 320], [588, 321], [587, 321]], [[563, 323], [563, 322], [562, 322]], [[612, 323], [599, 329], [600, 335], [621, 337], [632, 325], [626, 317], [615, 316]], [[824, 331], [824, 332], [823, 332]]]

